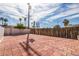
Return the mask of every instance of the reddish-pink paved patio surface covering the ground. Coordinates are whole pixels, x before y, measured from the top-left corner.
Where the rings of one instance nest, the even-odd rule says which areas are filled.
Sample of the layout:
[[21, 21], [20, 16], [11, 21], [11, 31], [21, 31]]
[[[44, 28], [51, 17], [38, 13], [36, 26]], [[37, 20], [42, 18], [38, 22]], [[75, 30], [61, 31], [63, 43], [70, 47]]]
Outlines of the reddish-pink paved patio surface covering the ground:
[[[0, 43], [0, 56], [79, 56], [79, 40], [30, 34], [29, 50], [27, 35], [5, 36]], [[30, 40], [32, 41], [32, 40]]]

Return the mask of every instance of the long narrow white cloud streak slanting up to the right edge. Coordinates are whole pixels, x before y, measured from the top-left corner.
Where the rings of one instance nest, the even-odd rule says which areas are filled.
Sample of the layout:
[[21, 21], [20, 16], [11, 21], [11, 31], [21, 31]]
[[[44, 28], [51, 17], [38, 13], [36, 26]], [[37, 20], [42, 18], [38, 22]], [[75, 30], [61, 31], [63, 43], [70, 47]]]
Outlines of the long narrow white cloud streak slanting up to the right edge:
[[65, 17], [65, 16], [69, 16], [69, 15], [72, 15], [75, 13], [79, 13], [79, 8], [67, 10], [66, 12], [62, 12], [62, 13], [59, 13], [58, 15], [52, 16], [52, 17], [48, 18], [47, 20], [52, 21], [52, 20], [55, 20], [55, 19], [58, 19], [61, 17]]

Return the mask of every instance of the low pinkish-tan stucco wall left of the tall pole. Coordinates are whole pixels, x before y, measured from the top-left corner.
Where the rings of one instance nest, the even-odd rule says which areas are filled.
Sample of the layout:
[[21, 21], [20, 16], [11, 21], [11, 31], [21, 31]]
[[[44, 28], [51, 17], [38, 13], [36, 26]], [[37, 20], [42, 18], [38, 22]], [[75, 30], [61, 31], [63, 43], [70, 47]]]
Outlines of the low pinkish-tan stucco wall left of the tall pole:
[[5, 28], [4, 34], [5, 35], [21, 35], [29, 33], [28, 29], [16, 29], [16, 28]]

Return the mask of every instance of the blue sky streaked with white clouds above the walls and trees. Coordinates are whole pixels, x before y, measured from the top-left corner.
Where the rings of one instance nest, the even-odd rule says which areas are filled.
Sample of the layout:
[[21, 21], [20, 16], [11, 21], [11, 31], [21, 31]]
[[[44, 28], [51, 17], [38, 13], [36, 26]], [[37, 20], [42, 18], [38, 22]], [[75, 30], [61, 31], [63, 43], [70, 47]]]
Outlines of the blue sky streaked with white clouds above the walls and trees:
[[[42, 28], [51, 28], [55, 25], [63, 27], [64, 19], [68, 19], [70, 24], [79, 24], [78, 3], [32, 3], [30, 5], [30, 25], [35, 21]], [[7, 18], [9, 25], [16, 25], [19, 23], [19, 18], [27, 19], [27, 8], [27, 3], [0, 3], [0, 17]]]

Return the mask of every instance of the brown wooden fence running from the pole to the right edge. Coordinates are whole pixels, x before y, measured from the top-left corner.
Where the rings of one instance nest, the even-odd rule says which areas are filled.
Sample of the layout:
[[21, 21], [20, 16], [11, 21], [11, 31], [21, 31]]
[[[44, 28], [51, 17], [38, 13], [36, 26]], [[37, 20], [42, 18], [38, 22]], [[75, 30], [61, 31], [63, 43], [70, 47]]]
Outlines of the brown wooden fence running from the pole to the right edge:
[[79, 27], [31, 29], [32, 34], [48, 35], [54, 37], [77, 39]]

